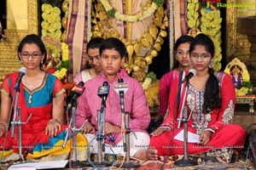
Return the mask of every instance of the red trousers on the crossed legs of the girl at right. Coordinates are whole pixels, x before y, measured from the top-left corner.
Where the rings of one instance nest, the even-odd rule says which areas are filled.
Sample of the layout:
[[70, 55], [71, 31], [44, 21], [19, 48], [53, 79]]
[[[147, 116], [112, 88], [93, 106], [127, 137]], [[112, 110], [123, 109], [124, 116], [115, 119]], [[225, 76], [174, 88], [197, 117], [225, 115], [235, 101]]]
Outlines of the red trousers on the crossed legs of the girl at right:
[[[181, 128], [183, 129], [183, 128]], [[174, 136], [181, 130], [175, 129]], [[166, 156], [171, 151], [171, 156], [183, 155], [184, 154], [184, 143], [173, 139], [173, 131], [162, 133], [160, 136], [151, 137], [150, 147], [158, 150], [159, 156]], [[228, 124], [218, 130], [218, 132], [212, 134], [212, 139], [207, 145], [199, 145], [188, 143], [189, 155], [200, 154], [207, 150], [219, 149], [224, 147], [231, 147], [236, 150], [243, 148], [245, 140], [244, 129], [235, 124]]]

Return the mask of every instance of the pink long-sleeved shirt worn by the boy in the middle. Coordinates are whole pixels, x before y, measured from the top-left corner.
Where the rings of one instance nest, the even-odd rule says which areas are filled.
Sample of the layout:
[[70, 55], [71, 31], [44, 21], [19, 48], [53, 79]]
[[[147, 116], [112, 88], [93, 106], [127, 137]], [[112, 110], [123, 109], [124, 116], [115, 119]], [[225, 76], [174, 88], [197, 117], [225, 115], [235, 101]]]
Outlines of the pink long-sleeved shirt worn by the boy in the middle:
[[[129, 88], [125, 93], [125, 111], [130, 113], [131, 131], [147, 132], [150, 122], [150, 113], [148, 109], [147, 99], [143, 88], [137, 80], [129, 77], [125, 70], [121, 70], [118, 75], [111, 81], [103, 74], [85, 82], [84, 94], [78, 99], [78, 107], [76, 111], [77, 126], [80, 127], [85, 120], [88, 120], [97, 128], [97, 110], [101, 109], [102, 99], [97, 95], [97, 90], [102, 86], [103, 82], [108, 82], [109, 94], [106, 101], [106, 122], [121, 127], [121, 109], [119, 104], [119, 94], [114, 90], [114, 84], [118, 83], [119, 77], [129, 84]], [[121, 140], [120, 133], [113, 134], [115, 141]], [[106, 141], [108, 143], [108, 140]]]

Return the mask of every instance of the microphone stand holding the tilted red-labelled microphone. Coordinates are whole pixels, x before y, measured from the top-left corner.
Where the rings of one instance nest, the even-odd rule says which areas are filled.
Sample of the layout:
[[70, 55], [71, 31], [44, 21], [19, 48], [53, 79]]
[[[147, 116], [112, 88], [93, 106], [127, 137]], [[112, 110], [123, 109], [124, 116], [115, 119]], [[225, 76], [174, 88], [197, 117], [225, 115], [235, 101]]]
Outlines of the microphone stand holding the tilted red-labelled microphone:
[[72, 107], [72, 117], [71, 117], [71, 120], [67, 127], [67, 134], [66, 134], [64, 143], [62, 145], [62, 148], [65, 148], [65, 146], [67, 144], [68, 137], [72, 136], [72, 138], [73, 138], [73, 160], [71, 161], [71, 167], [86, 167], [88, 165], [86, 162], [77, 160], [77, 133], [79, 133], [79, 131], [84, 127], [84, 125], [87, 121], [85, 121], [84, 124], [80, 128], [76, 127], [76, 124], [77, 124], [76, 107], [77, 107], [77, 104], [75, 103]]

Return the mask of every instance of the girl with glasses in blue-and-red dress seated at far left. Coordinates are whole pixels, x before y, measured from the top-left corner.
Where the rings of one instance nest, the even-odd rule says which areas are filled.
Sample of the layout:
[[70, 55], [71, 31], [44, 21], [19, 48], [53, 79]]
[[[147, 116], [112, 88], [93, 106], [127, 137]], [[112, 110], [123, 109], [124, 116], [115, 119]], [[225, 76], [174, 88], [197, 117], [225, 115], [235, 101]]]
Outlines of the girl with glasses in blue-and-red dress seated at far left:
[[[68, 156], [69, 145], [62, 149], [67, 126], [63, 125], [64, 92], [61, 81], [44, 71], [46, 60], [44, 42], [35, 34], [24, 37], [18, 47], [20, 63], [26, 68], [26, 74], [20, 82], [20, 89], [15, 89], [19, 72], [5, 77], [1, 90], [0, 145], [3, 146], [2, 160], [19, 151], [18, 126], [14, 127], [14, 138], [11, 137], [10, 122], [14, 116], [14, 103], [20, 109], [21, 148], [26, 159], [39, 159], [48, 155]], [[19, 91], [19, 95], [16, 95]], [[31, 116], [30, 119], [29, 116]], [[17, 116], [16, 116], [17, 117]], [[84, 139], [81, 134], [81, 139]], [[83, 140], [86, 144], [86, 139]], [[14, 152], [14, 153], [13, 153]], [[2, 152], [1, 152], [2, 153]], [[64, 158], [62, 157], [62, 158]]]

